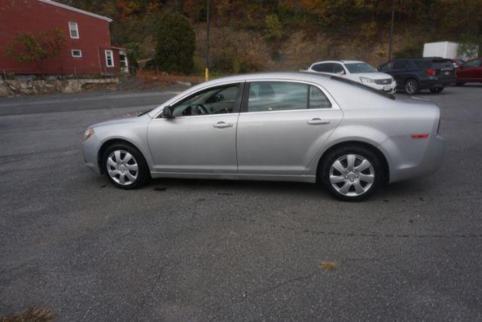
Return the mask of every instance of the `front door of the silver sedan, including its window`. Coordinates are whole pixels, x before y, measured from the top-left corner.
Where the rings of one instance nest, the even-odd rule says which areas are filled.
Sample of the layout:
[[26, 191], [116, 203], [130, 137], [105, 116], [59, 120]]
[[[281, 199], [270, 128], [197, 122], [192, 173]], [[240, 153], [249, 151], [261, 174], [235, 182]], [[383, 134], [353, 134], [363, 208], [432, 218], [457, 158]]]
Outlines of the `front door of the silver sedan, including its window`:
[[201, 90], [153, 119], [147, 140], [155, 172], [236, 173], [236, 128], [242, 84]]

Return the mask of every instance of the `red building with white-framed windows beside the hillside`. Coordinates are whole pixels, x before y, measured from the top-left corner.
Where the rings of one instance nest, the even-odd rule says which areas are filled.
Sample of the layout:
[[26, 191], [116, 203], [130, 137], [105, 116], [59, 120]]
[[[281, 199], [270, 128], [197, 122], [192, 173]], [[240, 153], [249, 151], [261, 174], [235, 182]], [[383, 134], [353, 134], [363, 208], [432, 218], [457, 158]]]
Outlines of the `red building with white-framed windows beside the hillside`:
[[0, 0], [0, 72], [39, 74], [35, 63], [19, 62], [5, 47], [19, 33], [53, 32], [65, 37], [61, 52], [42, 63], [44, 74], [127, 72], [125, 51], [110, 43], [112, 19], [51, 0]]

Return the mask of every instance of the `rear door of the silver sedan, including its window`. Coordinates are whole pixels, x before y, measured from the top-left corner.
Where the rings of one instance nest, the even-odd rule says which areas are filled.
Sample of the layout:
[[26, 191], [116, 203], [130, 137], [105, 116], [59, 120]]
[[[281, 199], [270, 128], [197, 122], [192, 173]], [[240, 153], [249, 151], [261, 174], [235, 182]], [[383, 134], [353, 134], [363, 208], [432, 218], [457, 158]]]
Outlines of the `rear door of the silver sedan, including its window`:
[[236, 139], [239, 173], [301, 175], [342, 115], [315, 84], [246, 83]]

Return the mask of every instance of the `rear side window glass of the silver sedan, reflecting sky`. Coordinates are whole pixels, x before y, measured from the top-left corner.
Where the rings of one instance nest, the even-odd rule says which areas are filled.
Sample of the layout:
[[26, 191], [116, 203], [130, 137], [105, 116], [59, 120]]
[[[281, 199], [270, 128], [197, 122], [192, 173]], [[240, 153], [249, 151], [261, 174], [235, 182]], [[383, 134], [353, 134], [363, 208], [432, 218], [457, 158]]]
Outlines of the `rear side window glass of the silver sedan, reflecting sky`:
[[[311, 101], [309, 102], [309, 100]], [[291, 82], [253, 82], [250, 84], [247, 112], [325, 107], [331, 107], [328, 98], [318, 88], [308, 84]]]

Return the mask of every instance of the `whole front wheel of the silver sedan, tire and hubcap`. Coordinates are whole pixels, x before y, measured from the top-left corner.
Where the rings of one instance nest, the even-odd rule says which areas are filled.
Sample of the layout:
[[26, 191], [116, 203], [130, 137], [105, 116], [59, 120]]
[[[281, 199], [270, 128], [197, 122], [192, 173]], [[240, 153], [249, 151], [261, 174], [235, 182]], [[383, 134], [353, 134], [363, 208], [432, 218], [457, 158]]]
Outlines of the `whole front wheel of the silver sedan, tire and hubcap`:
[[111, 145], [104, 153], [102, 163], [107, 178], [121, 189], [136, 189], [149, 178], [146, 160], [129, 144]]

